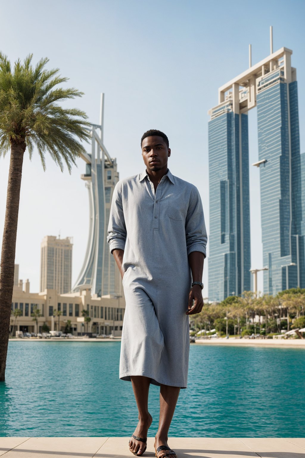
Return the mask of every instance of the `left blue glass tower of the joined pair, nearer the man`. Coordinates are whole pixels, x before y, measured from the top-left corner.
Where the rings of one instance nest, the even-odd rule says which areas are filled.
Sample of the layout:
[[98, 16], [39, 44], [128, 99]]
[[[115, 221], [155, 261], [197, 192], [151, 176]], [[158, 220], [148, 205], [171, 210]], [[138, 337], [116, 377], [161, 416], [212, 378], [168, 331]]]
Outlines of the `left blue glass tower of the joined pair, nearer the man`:
[[250, 289], [248, 116], [232, 104], [209, 121], [209, 297]]

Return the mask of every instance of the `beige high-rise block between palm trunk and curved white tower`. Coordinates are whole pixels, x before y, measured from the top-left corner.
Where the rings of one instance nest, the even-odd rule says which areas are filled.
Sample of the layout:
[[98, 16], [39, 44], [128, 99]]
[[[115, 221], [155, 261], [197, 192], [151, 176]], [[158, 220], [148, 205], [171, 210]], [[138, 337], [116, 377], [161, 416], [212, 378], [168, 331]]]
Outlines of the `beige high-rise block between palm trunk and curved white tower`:
[[72, 278], [71, 238], [47, 235], [41, 242], [40, 292], [55, 289], [58, 294], [71, 291]]

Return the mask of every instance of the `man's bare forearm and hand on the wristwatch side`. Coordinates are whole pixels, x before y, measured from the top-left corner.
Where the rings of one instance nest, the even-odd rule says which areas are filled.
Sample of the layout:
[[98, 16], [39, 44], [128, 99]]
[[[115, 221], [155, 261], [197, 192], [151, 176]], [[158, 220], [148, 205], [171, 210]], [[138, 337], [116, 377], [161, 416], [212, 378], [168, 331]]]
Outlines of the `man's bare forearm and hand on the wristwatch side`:
[[[204, 254], [200, 251], [192, 251], [188, 255], [188, 262], [191, 267], [193, 282], [202, 282]], [[192, 308], [192, 302], [195, 301]], [[188, 296], [187, 315], [200, 313], [203, 307], [202, 289], [199, 285], [194, 285]]]

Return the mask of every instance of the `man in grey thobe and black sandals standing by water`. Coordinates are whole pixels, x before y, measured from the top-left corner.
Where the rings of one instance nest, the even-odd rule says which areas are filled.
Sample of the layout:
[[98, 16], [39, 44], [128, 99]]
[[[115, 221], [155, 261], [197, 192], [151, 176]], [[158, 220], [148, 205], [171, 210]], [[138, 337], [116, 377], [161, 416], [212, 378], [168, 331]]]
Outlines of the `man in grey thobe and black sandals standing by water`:
[[132, 382], [139, 410], [130, 451], [140, 456], [146, 450], [153, 383], [160, 386], [155, 455], [177, 458], [167, 435], [180, 388], [187, 387], [188, 315], [203, 307], [207, 234], [197, 188], [167, 168], [167, 136], [147, 131], [141, 148], [146, 169], [115, 186], [108, 226], [126, 300], [119, 376]]

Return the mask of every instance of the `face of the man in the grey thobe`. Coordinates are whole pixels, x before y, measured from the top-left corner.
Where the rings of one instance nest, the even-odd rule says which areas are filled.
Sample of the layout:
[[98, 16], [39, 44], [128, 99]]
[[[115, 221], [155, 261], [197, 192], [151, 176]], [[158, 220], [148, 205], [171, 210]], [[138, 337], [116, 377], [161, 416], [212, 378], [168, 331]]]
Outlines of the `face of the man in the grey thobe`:
[[142, 156], [147, 171], [157, 172], [167, 168], [167, 159], [171, 155], [170, 148], [162, 137], [157, 135], [146, 137], [142, 142]]

